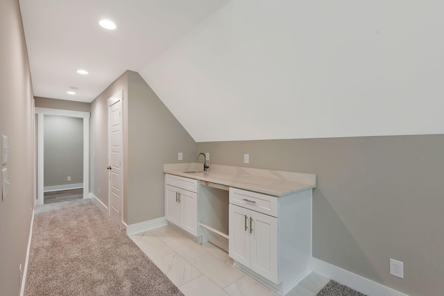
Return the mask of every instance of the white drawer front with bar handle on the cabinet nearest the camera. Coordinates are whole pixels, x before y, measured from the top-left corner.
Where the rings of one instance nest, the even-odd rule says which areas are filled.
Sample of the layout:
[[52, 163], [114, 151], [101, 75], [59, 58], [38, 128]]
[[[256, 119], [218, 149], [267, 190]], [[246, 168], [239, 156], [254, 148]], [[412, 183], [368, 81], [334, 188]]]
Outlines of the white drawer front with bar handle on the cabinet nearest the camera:
[[278, 216], [278, 198], [230, 187], [230, 203], [273, 217]]

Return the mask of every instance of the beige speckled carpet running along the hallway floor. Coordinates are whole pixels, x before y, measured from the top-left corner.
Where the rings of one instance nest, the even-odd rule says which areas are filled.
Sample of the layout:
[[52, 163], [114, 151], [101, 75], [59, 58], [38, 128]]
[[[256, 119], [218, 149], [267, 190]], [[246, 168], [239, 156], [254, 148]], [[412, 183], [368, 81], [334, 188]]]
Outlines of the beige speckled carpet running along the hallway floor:
[[35, 209], [25, 295], [182, 295], [92, 200]]

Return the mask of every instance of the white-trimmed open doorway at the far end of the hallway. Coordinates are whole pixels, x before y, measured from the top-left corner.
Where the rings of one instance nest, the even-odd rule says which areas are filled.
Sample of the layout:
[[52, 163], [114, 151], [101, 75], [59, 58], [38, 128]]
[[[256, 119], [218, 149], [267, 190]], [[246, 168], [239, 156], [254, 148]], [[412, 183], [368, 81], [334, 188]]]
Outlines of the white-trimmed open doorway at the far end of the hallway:
[[[89, 112], [35, 107], [35, 114], [37, 116], [37, 199], [35, 204], [89, 198]], [[64, 118], [65, 121], [63, 121]], [[47, 123], [52, 121], [51, 128], [58, 130], [53, 137], [45, 137], [45, 133], [47, 136], [47, 133], [51, 131], [48, 128], [49, 125], [45, 128], [45, 121]], [[79, 124], [80, 128], [77, 127], [77, 133], [83, 135], [77, 137], [83, 137], [83, 142], [70, 143], [69, 138], [66, 138], [58, 144], [61, 148], [58, 147], [53, 151], [51, 151], [51, 145], [46, 145], [45, 148], [45, 141], [60, 142], [60, 135], [62, 135], [60, 132], [65, 126]], [[64, 164], [58, 162], [60, 159], [66, 162]], [[62, 173], [64, 169], [74, 171], [67, 175], [67, 173]], [[65, 182], [62, 181], [63, 178]]]

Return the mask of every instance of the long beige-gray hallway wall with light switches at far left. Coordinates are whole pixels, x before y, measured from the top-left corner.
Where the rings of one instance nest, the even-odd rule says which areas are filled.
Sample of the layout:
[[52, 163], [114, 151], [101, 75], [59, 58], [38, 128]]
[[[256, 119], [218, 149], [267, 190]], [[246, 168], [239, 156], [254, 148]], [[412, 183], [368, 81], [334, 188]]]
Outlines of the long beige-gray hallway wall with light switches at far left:
[[0, 295], [19, 295], [34, 198], [33, 91], [19, 1], [1, 1], [0, 36], [0, 133], [10, 146], [1, 166], [8, 168], [10, 186], [0, 200]]

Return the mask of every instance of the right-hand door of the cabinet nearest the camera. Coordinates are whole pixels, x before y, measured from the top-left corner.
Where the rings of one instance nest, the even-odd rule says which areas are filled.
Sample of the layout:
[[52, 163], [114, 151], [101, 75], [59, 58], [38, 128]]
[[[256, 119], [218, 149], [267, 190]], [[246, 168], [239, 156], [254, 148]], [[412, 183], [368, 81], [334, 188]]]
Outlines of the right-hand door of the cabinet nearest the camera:
[[[278, 283], [278, 219], [250, 211], [253, 233], [250, 237], [250, 269]], [[250, 220], [248, 221], [250, 223]], [[250, 225], [250, 224], [248, 224]]]

